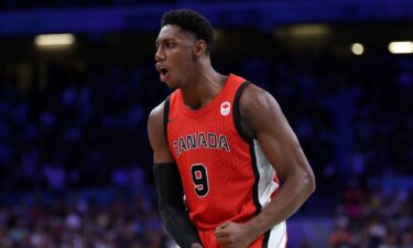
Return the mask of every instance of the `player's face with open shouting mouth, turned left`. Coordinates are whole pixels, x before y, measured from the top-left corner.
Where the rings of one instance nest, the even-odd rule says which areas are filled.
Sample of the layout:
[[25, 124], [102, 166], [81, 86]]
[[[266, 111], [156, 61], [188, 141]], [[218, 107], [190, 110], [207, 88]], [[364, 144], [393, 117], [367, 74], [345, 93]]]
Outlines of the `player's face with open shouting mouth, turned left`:
[[171, 88], [182, 86], [194, 72], [196, 40], [177, 25], [164, 25], [156, 39], [155, 67], [160, 80]]

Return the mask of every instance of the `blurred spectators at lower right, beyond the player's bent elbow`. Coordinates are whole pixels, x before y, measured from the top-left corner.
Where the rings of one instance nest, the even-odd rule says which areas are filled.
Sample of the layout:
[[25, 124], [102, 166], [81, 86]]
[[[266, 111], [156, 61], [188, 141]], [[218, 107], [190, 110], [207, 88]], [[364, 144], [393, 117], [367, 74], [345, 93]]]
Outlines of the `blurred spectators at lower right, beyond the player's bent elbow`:
[[330, 248], [412, 248], [413, 190], [350, 181], [336, 208]]

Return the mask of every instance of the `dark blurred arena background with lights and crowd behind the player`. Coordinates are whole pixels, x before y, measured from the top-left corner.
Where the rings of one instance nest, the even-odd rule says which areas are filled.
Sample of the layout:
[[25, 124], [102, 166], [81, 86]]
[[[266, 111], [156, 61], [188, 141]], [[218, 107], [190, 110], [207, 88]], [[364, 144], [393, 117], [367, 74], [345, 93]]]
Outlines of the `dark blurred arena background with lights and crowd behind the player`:
[[146, 118], [175, 8], [210, 20], [216, 69], [273, 94], [298, 136], [317, 190], [287, 247], [412, 248], [411, 0], [1, 0], [0, 247], [173, 247]]

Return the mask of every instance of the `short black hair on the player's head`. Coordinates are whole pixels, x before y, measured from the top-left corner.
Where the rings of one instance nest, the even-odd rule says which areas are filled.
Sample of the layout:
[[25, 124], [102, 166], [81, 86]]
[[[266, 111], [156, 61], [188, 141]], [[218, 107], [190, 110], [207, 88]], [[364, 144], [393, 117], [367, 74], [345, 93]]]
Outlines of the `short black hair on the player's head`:
[[166, 11], [162, 17], [161, 28], [167, 24], [181, 26], [184, 31], [191, 32], [197, 40], [207, 43], [207, 53], [214, 42], [214, 28], [210, 22], [194, 10], [180, 9]]

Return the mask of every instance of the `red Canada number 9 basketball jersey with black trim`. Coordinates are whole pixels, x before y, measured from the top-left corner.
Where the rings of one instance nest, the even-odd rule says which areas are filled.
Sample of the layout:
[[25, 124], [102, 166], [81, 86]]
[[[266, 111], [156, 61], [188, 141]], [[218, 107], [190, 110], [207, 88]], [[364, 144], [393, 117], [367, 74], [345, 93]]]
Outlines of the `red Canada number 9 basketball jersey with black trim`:
[[257, 140], [240, 126], [239, 98], [247, 85], [242, 77], [229, 75], [214, 100], [197, 110], [184, 105], [180, 89], [165, 101], [167, 143], [198, 230], [227, 220], [247, 222], [279, 187]]

